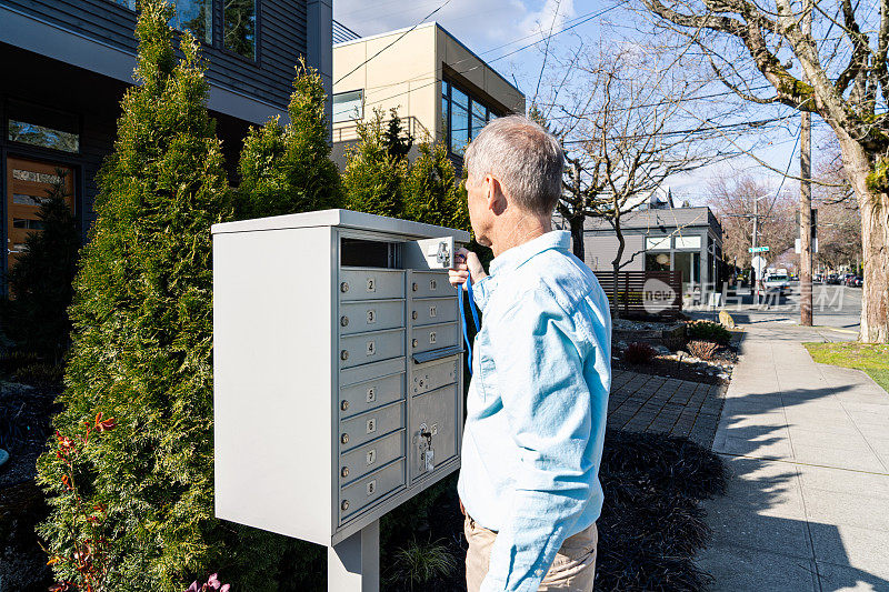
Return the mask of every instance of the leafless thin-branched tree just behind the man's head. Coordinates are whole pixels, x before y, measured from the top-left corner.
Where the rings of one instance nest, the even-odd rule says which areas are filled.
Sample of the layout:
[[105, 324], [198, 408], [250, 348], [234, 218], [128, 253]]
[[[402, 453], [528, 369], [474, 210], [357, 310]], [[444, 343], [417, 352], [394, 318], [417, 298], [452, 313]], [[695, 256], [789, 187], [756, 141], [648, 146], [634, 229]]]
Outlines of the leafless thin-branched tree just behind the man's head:
[[[618, 239], [616, 273], [625, 251], [622, 217], [645, 207], [671, 175], [729, 154], [705, 141], [711, 136], [707, 123], [686, 114], [699, 87], [659, 58], [628, 41], [577, 52], [563, 66], [570, 76], [557, 77], [552, 94], [561, 100], [532, 110], [547, 109], [549, 117], [541, 117], [566, 148], [558, 212], [570, 228], [575, 254], [581, 260], [586, 254], [586, 219], [603, 219]], [[572, 91], [565, 90], [567, 81]]]

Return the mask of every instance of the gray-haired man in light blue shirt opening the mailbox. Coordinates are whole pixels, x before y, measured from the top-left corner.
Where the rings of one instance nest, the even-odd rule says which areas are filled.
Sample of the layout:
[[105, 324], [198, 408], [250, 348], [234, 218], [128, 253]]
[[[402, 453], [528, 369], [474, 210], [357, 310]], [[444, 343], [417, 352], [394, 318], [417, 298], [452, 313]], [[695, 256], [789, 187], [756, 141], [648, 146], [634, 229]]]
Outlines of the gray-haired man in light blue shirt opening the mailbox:
[[523, 117], [492, 121], [466, 153], [469, 217], [490, 274], [461, 250], [476, 335], [458, 490], [470, 592], [592, 590], [611, 319], [590, 269], [551, 231], [558, 141]]

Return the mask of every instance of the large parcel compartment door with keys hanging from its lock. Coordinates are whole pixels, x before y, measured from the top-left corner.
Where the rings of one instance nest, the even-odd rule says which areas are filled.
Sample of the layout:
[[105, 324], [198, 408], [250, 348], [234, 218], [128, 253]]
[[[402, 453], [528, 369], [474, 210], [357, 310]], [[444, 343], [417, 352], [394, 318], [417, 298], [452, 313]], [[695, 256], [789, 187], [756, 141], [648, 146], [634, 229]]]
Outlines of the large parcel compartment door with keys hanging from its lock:
[[[462, 418], [457, 417], [457, 385], [450, 384], [411, 399], [408, 423], [408, 466], [411, 483], [457, 455], [456, 423], [462, 421]], [[424, 437], [423, 432], [431, 435]], [[426, 458], [429, 444], [433, 451], [431, 471]]]

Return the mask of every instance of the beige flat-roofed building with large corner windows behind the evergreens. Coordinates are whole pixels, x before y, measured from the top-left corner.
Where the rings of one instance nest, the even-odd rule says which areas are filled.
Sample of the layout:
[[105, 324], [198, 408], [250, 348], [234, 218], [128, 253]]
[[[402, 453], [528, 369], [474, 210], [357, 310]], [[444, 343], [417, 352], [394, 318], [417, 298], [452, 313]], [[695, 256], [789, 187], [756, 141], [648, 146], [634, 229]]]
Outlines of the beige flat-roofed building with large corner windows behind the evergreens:
[[493, 118], [525, 113], [525, 94], [436, 22], [372, 37], [339, 28], [333, 46], [333, 158], [358, 139], [356, 121], [391, 108], [417, 141], [447, 141], [462, 167], [467, 143]]

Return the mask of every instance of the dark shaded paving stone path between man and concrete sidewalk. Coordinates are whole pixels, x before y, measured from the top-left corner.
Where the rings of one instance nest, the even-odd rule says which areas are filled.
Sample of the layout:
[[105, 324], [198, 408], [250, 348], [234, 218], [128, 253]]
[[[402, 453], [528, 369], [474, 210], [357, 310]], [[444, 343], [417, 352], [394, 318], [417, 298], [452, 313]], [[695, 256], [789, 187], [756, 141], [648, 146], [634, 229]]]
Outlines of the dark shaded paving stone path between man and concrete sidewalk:
[[686, 437], [710, 448], [722, 409], [722, 387], [616, 370], [608, 427]]

